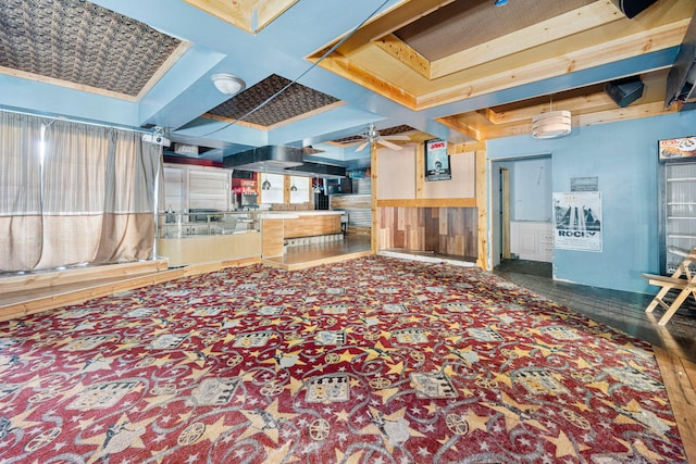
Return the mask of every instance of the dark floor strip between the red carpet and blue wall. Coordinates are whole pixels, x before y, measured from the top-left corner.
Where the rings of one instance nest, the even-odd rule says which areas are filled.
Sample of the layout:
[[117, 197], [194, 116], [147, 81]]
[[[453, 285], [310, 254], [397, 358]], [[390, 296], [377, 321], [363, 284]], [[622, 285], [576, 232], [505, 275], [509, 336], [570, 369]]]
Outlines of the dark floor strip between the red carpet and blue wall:
[[652, 294], [557, 281], [550, 263], [535, 261], [507, 260], [494, 273], [594, 321], [696, 362], [696, 304], [691, 297], [666, 326], [659, 326], [663, 311], [658, 308], [651, 314], [645, 312]]

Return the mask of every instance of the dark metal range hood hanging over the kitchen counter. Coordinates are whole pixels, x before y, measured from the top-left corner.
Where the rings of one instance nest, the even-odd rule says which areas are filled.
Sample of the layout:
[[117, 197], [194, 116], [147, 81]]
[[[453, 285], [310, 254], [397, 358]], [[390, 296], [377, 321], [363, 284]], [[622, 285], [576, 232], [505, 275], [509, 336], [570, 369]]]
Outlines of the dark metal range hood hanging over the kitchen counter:
[[265, 146], [223, 158], [223, 167], [236, 171], [286, 174], [306, 177], [346, 177], [346, 168], [303, 161], [303, 150], [297, 147]]

